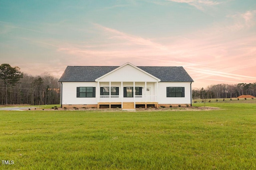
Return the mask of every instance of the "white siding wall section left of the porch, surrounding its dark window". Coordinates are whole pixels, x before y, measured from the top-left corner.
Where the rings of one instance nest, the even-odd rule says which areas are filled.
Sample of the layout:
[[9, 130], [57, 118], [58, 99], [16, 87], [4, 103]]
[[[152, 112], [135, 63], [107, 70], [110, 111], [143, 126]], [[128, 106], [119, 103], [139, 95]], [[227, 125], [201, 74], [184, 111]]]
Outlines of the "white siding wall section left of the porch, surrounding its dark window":
[[[77, 98], [77, 87], [96, 87], [96, 98]], [[62, 82], [62, 104], [97, 104], [97, 82]]]

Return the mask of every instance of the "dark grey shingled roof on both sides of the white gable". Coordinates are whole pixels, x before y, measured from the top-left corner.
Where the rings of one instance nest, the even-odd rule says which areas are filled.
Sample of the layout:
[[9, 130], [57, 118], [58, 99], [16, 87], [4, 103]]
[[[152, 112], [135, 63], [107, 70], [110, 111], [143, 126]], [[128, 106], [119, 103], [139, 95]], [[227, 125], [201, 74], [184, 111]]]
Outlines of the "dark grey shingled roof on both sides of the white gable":
[[[94, 82], [119, 66], [67, 66], [59, 82]], [[161, 82], [194, 82], [182, 66], [138, 66]]]

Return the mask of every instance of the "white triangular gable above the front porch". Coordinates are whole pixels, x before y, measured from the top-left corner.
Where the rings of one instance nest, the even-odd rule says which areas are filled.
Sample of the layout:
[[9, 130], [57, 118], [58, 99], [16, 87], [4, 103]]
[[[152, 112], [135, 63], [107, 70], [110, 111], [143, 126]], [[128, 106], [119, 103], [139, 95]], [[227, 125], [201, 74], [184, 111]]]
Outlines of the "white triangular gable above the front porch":
[[160, 79], [144, 70], [126, 63], [115, 70], [97, 78], [99, 82], [158, 82]]

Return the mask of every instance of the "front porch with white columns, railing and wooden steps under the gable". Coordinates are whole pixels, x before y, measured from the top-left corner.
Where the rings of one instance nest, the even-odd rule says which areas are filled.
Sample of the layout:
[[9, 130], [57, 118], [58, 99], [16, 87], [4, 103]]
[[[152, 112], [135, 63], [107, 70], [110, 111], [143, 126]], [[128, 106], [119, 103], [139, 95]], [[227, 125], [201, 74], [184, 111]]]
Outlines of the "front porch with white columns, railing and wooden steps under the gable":
[[158, 107], [158, 82], [98, 82], [98, 108]]

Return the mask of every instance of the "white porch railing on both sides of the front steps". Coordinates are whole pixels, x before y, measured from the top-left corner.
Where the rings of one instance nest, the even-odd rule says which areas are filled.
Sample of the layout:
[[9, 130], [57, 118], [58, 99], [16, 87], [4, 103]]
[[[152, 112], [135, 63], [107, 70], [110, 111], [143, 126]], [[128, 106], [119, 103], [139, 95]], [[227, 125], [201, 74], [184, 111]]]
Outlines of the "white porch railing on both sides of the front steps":
[[[157, 96], [136, 95], [134, 97], [134, 101], [135, 102], [157, 102]], [[100, 96], [99, 102], [121, 102], [121, 96]]]

